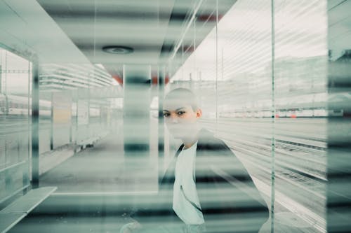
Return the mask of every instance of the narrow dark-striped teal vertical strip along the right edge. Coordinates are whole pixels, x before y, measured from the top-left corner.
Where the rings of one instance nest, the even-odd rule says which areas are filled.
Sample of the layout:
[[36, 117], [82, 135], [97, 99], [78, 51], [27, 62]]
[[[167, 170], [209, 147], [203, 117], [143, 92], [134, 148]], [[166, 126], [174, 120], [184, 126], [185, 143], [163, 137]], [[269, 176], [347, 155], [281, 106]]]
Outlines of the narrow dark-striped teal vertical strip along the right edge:
[[350, 10], [350, 1], [328, 1], [328, 232], [351, 229]]

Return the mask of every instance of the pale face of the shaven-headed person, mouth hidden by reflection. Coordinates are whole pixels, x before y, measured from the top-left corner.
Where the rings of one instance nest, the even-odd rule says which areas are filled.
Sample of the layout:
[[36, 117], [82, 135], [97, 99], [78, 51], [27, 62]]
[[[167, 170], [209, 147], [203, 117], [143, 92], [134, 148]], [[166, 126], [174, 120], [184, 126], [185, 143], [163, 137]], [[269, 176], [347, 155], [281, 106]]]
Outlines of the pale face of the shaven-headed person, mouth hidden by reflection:
[[185, 139], [197, 133], [197, 119], [201, 117], [201, 110], [194, 111], [190, 104], [183, 104], [176, 100], [164, 102], [164, 121], [169, 132], [176, 139]]

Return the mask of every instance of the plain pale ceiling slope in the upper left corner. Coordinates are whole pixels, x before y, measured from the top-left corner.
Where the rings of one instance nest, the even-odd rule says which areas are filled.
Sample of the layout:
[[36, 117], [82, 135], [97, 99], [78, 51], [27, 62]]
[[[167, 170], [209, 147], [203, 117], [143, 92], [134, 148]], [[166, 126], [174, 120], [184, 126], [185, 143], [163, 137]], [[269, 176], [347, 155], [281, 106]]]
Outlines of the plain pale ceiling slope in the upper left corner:
[[0, 45], [41, 63], [90, 63], [35, 0], [0, 0]]

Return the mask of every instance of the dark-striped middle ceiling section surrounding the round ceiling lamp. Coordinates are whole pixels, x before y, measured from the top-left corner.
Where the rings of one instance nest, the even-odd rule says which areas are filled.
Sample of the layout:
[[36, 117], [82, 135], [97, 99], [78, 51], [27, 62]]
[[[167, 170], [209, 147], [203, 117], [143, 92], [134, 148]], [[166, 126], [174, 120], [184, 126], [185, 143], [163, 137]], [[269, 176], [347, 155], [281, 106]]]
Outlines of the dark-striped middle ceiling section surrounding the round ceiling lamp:
[[[184, 30], [197, 11], [197, 41], [215, 26], [216, 0], [37, 0], [77, 48], [97, 64], [110, 71], [122, 64], [160, 64], [183, 40], [185, 46], [194, 41], [194, 32]], [[235, 0], [222, 0], [219, 14], [224, 14]], [[199, 23], [198, 23], [199, 22]], [[206, 23], [205, 23], [206, 22]], [[128, 55], [108, 54], [107, 45], [133, 48]], [[112, 69], [111, 69], [112, 67]]]

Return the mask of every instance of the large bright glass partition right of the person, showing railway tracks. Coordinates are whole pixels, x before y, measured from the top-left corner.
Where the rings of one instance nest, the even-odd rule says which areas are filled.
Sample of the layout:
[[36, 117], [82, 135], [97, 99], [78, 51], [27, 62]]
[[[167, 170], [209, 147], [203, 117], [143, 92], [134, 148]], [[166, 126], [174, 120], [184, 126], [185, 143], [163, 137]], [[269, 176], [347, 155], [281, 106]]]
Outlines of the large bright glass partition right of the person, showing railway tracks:
[[168, 90], [199, 95], [201, 126], [227, 143], [270, 209], [261, 231], [326, 232], [326, 1], [237, 1], [214, 16]]

